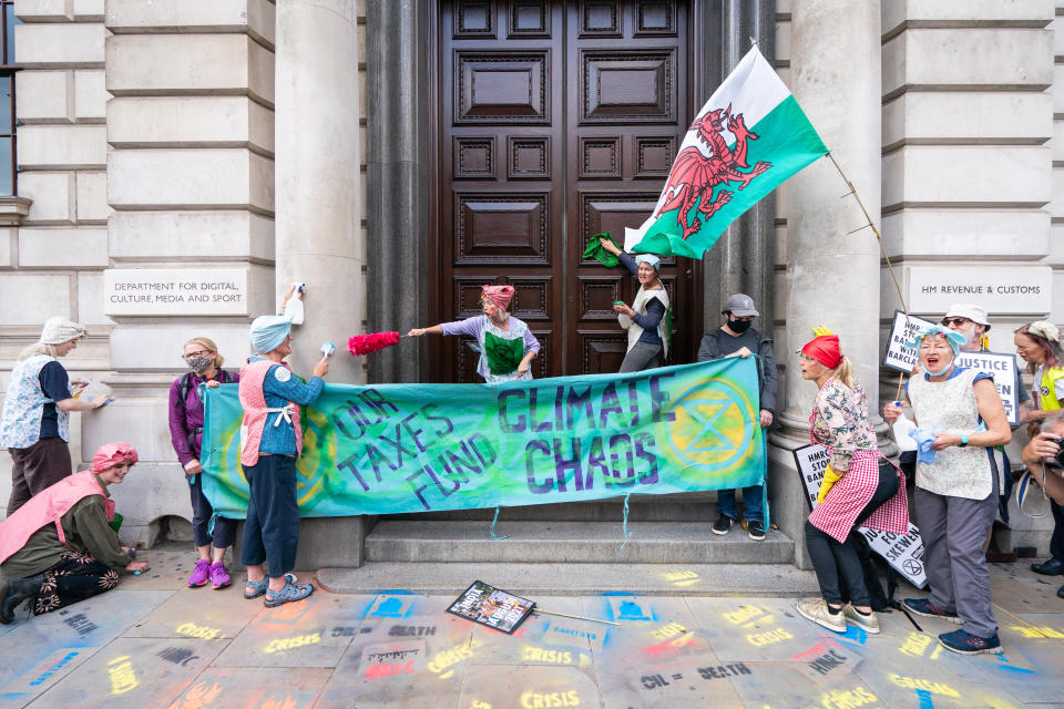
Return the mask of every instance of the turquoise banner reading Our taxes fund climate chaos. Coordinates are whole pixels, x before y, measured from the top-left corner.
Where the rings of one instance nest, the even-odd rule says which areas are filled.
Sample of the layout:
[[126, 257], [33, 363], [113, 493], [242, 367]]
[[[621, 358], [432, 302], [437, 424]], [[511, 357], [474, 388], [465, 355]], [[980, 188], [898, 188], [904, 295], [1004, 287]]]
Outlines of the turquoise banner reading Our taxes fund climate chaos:
[[[243, 517], [237, 384], [206, 389], [203, 489]], [[303, 516], [471, 510], [764, 482], [754, 359], [498, 384], [327, 384], [303, 408]]]

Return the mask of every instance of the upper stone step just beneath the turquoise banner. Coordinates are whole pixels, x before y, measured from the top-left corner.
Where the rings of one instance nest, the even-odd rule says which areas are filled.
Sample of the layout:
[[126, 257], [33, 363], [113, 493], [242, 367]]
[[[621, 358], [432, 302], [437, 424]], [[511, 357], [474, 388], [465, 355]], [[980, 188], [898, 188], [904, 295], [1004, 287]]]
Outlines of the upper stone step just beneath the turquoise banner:
[[709, 522], [380, 521], [366, 537], [368, 562], [570, 564], [790, 564], [794, 542], [776, 530], [755, 542], [736, 525], [726, 536]]

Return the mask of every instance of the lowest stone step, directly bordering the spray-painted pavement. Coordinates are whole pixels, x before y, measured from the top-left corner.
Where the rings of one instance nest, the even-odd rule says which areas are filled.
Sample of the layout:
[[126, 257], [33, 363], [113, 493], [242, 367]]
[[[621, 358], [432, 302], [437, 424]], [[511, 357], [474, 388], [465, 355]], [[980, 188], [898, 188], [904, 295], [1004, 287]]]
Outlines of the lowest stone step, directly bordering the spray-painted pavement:
[[[812, 572], [788, 564], [408, 564], [374, 562], [323, 568], [318, 583], [334, 593], [385, 592], [457, 596], [474, 580], [528, 596], [816, 596]], [[543, 604], [549, 607], [549, 604]]]

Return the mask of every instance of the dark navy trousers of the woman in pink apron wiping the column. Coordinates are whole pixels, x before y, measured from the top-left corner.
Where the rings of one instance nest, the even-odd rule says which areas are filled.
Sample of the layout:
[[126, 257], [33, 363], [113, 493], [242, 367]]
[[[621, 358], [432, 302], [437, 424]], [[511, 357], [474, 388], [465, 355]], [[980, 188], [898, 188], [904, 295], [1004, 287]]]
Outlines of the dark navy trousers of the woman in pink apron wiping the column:
[[299, 505], [296, 503], [296, 459], [263, 455], [244, 466], [250, 492], [247, 521], [241, 537], [241, 563], [266, 562], [269, 575], [279, 578], [296, 567], [299, 545]]

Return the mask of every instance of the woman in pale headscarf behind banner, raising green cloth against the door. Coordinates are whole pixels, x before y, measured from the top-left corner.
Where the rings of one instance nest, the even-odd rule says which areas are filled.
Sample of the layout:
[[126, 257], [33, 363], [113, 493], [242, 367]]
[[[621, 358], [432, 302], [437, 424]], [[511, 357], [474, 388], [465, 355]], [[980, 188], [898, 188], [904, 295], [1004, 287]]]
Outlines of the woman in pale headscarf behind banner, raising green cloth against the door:
[[661, 280], [662, 259], [653, 254], [633, 257], [607, 238], [598, 237], [598, 243], [616, 256], [641, 285], [631, 307], [623, 302], [613, 306], [621, 327], [628, 331], [628, 350], [621, 362], [621, 373], [661, 367], [662, 360], [668, 357], [672, 337], [668, 292]]

